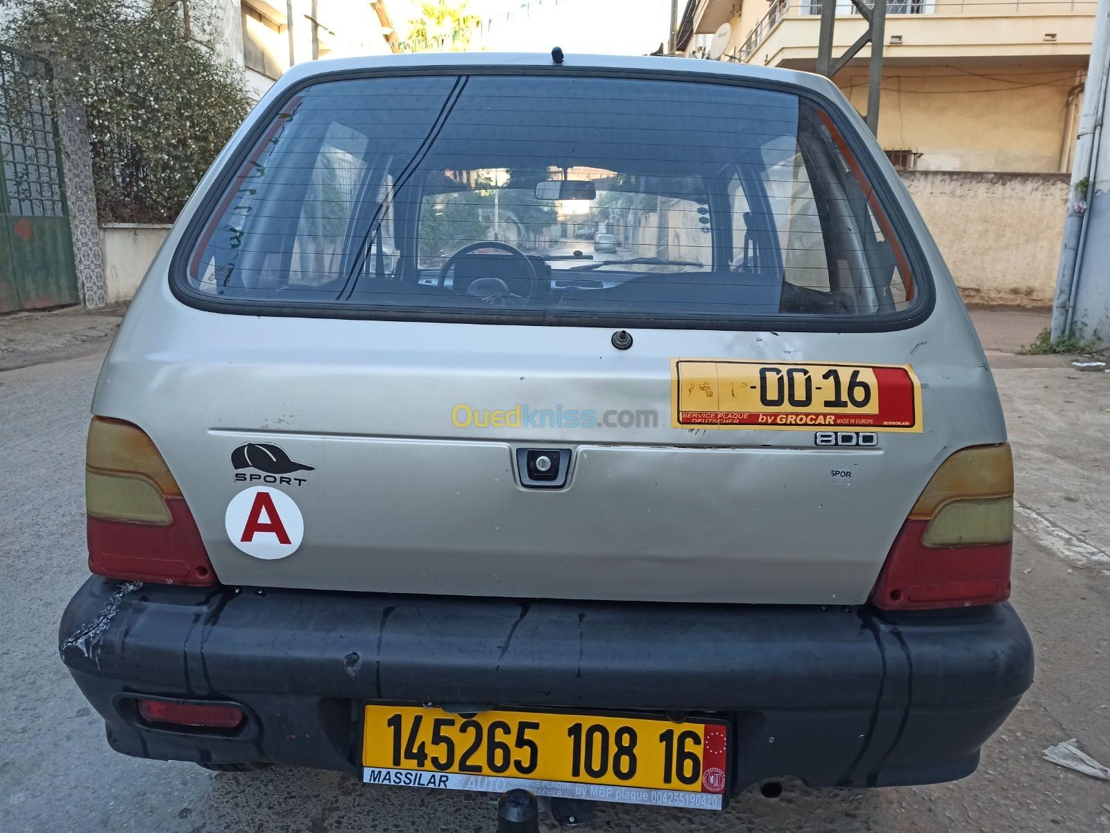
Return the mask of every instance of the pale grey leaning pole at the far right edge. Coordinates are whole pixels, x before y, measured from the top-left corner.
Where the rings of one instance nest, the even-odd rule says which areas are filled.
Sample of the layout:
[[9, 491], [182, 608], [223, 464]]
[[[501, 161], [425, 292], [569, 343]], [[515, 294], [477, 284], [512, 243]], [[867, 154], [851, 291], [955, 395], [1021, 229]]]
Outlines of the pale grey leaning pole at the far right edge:
[[1110, 0], [1099, 0], [1079, 115], [1063, 246], [1052, 303], [1052, 341], [1110, 346], [1110, 141], [1102, 130], [1110, 82]]

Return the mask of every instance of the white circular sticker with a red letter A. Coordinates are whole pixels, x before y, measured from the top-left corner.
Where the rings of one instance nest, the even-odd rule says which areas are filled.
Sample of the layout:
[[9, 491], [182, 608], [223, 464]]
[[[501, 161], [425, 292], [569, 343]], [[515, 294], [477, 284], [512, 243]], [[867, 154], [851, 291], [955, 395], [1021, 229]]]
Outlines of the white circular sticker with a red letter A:
[[304, 518], [293, 498], [270, 486], [252, 486], [235, 495], [223, 525], [239, 549], [268, 560], [292, 556], [304, 538]]

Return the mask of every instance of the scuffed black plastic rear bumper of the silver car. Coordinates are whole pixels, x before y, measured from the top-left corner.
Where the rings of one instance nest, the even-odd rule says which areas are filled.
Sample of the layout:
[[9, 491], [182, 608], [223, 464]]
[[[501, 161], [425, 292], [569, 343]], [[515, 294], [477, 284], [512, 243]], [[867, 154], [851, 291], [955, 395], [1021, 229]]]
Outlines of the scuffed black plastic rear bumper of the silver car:
[[[404, 597], [91, 578], [61, 657], [112, 748], [359, 771], [364, 701], [724, 712], [733, 789], [795, 775], [894, 785], [970, 774], [1032, 681], [1009, 605], [864, 608]], [[229, 700], [230, 737], [144, 724], [125, 694]]]

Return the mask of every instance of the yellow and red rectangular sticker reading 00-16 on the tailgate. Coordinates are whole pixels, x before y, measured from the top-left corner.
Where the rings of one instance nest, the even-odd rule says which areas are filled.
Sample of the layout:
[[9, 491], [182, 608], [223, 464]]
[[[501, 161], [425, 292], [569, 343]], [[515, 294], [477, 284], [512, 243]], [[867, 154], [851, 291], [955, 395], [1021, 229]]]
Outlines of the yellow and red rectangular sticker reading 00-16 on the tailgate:
[[922, 429], [910, 365], [672, 358], [670, 408], [674, 428]]

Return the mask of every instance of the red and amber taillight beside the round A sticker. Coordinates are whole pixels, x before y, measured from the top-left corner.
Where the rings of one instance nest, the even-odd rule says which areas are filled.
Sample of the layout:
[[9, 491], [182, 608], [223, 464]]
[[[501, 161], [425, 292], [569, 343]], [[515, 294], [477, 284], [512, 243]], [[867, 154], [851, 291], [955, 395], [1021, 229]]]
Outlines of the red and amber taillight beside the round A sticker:
[[215, 583], [181, 489], [141, 428], [92, 418], [84, 491], [90, 570], [164, 585]]

